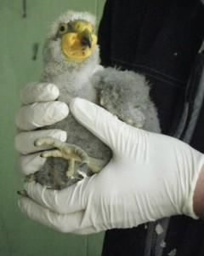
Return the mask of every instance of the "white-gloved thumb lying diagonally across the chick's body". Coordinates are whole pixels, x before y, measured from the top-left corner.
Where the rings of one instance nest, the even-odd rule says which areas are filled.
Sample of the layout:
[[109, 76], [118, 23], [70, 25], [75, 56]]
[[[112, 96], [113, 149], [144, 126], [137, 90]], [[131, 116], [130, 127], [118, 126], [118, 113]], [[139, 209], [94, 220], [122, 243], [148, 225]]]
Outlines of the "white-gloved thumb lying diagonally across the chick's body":
[[128, 140], [133, 144], [133, 140], [136, 139], [136, 136], [131, 136], [135, 133], [133, 129], [136, 128], [125, 124], [93, 102], [74, 98], [71, 101], [70, 109], [79, 123], [99, 137], [111, 149], [114, 148], [115, 152], [118, 149], [121, 153], [125, 153]]

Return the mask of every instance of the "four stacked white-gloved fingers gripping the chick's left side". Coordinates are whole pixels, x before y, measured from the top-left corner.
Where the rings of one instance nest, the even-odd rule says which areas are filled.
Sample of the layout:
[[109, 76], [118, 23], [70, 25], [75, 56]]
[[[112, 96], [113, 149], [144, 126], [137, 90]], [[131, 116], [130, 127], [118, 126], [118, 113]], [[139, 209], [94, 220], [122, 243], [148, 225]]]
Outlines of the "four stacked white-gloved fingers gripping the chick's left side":
[[[37, 153], [43, 148], [34, 147], [37, 137], [55, 137], [65, 142], [66, 132], [61, 130], [39, 130], [37, 128], [52, 125], [69, 113], [64, 102], [55, 101], [59, 96], [59, 89], [54, 84], [31, 83], [20, 92], [23, 106], [15, 116], [15, 123], [21, 130], [15, 137], [15, 148], [24, 154], [16, 164], [16, 172], [22, 176], [37, 172], [45, 160]], [[27, 155], [26, 155], [27, 154]]]

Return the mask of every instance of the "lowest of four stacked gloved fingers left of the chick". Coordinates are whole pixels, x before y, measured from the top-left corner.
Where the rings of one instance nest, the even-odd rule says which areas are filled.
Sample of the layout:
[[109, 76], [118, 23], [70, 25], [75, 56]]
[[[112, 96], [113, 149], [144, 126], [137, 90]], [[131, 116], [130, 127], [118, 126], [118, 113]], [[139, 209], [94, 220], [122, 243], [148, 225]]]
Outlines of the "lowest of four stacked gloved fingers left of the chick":
[[41, 153], [21, 155], [16, 161], [15, 172], [20, 174], [20, 176], [25, 177], [31, 173], [35, 173], [40, 170], [40, 168], [46, 162], [46, 158], [40, 156]]

